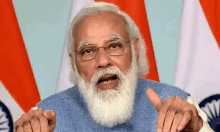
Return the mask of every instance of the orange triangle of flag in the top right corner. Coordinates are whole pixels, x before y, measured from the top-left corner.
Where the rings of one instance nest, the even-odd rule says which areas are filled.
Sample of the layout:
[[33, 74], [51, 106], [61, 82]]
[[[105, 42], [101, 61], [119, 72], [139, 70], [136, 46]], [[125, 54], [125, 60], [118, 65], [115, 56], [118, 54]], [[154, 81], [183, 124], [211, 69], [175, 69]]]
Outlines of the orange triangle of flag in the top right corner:
[[220, 1], [200, 0], [206, 19], [220, 48]]

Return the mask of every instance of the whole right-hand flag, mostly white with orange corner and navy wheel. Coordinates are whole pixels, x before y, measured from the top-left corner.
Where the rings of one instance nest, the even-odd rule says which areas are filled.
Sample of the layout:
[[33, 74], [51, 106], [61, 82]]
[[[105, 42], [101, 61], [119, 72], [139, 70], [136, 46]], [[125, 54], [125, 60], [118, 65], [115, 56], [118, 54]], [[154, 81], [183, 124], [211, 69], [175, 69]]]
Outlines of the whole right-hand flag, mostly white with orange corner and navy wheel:
[[220, 131], [220, 1], [184, 0], [174, 85], [191, 94]]

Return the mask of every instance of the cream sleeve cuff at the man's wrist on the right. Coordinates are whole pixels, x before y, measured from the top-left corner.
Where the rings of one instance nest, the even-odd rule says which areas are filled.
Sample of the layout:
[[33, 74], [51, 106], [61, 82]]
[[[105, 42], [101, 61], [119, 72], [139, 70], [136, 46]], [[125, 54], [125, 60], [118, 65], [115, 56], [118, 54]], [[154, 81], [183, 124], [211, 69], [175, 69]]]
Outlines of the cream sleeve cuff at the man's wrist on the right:
[[210, 126], [209, 126], [209, 124], [208, 124], [207, 115], [200, 109], [200, 107], [199, 107], [198, 103], [195, 101], [195, 99], [194, 99], [193, 97], [191, 97], [191, 96], [188, 96], [188, 97], [187, 97], [187, 102], [190, 103], [190, 104], [193, 104], [193, 105], [196, 107], [196, 109], [197, 109], [197, 111], [198, 111], [198, 113], [199, 113], [199, 116], [200, 116], [200, 117], [202, 118], [202, 120], [203, 120], [203, 126], [202, 126], [202, 128], [200, 129], [199, 132], [214, 132], [214, 131], [210, 128]]

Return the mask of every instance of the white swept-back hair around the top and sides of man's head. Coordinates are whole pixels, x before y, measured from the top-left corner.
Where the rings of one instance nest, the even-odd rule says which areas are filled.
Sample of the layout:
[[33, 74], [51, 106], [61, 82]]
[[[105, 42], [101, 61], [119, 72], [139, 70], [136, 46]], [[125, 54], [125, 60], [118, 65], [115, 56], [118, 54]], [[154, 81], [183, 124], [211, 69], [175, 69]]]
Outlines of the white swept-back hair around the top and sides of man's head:
[[[111, 12], [114, 14], [117, 14], [124, 18], [127, 26], [127, 32], [129, 34], [130, 39], [139, 39], [139, 45], [140, 45], [140, 51], [139, 51], [139, 59], [138, 59], [138, 69], [137, 69], [137, 75], [142, 76], [148, 73], [148, 63], [146, 59], [146, 46], [145, 42], [142, 38], [142, 35], [139, 31], [139, 28], [135, 24], [135, 22], [131, 19], [129, 15], [127, 15], [125, 12], [121, 11], [118, 6], [110, 3], [105, 3], [105, 2], [95, 2], [89, 7], [83, 8], [70, 22], [69, 24], [69, 31], [68, 31], [68, 38], [67, 38], [67, 53], [68, 55], [70, 53], [73, 53], [74, 51], [74, 35], [73, 31], [75, 30], [75, 25], [82, 19], [86, 18], [87, 16], [90, 15], [96, 15], [98, 13], [104, 13], [104, 12]], [[134, 42], [134, 41], [133, 41]], [[132, 43], [134, 44], [134, 43]], [[70, 59], [70, 61], [75, 61], [75, 54], [72, 54], [73, 60]], [[70, 62], [69, 61], [69, 62]], [[74, 68], [76, 66], [74, 65]], [[75, 69], [77, 70], [77, 69]], [[72, 75], [71, 75], [72, 76]]]

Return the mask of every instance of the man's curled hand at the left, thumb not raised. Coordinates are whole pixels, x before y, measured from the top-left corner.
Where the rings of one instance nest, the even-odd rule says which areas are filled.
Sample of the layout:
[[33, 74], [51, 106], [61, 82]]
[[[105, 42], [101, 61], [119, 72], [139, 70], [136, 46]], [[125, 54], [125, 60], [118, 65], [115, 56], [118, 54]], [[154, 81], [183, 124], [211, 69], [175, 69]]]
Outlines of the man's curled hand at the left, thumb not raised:
[[56, 113], [52, 110], [30, 110], [15, 122], [15, 132], [53, 132]]

